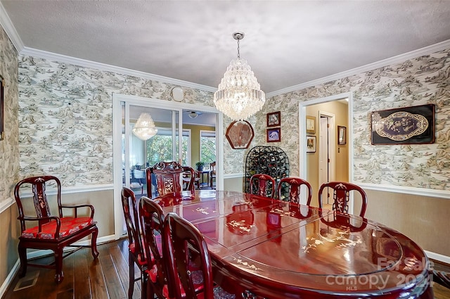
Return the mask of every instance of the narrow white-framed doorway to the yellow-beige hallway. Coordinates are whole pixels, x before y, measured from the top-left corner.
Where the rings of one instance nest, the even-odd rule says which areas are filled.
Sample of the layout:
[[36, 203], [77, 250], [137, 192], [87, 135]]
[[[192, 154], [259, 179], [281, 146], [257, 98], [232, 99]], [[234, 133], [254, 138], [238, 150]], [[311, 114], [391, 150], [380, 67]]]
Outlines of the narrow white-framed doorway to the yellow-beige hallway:
[[[316, 119], [314, 133], [307, 133], [306, 118]], [[318, 205], [318, 191], [323, 182], [352, 181], [352, 95], [337, 94], [299, 104], [300, 177], [313, 189], [311, 205]], [[347, 144], [338, 145], [336, 128], [347, 127]], [[307, 136], [316, 140], [316, 151], [307, 152]], [[319, 163], [321, 160], [321, 164]], [[319, 165], [320, 164], [320, 165]]]

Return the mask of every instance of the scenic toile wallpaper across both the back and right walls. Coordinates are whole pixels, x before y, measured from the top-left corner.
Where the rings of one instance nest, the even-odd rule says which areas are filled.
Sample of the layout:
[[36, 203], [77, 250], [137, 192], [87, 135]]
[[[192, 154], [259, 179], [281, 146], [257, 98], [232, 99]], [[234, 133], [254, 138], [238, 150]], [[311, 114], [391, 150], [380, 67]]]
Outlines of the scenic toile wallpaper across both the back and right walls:
[[[266, 144], [266, 113], [281, 110], [290, 173], [299, 173], [298, 103], [352, 92], [355, 182], [450, 190], [450, 49], [314, 87], [274, 96], [251, 117], [255, 139]], [[112, 94], [169, 101], [171, 84], [21, 56], [20, 174], [53, 173], [65, 186], [112, 183]], [[214, 106], [212, 93], [189, 89], [188, 103]], [[370, 113], [436, 105], [435, 144], [371, 145]], [[225, 117], [224, 130], [231, 121]], [[248, 150], [247, 150], [248, 151]], [[224, 139], [225, 174], [243, 173], [245, 150]]]

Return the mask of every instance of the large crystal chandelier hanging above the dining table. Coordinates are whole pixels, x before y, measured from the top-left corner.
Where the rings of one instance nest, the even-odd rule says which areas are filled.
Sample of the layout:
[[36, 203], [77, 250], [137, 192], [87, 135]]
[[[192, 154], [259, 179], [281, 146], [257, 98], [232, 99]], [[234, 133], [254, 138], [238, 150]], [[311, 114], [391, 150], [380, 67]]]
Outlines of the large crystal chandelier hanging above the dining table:
[[240, 59], [239, 41], [243, 32], [234, 32], [238, 41], [238, 58], [233, 59], [221, 79], [219, 88], [214, 92], [214, 104], [217, 109], [232, 120], [245, 120], [254, 115], [266, 101], [266, 95], [245, 59]]

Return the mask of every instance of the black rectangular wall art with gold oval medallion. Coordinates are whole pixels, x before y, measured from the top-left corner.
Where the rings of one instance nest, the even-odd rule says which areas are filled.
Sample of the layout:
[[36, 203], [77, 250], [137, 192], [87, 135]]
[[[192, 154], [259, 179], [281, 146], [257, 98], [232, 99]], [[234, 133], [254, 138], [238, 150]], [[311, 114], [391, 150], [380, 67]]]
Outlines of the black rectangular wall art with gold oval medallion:
[[435, 105], [373, 111], [372, 144], [432, 144], [435, 142]]

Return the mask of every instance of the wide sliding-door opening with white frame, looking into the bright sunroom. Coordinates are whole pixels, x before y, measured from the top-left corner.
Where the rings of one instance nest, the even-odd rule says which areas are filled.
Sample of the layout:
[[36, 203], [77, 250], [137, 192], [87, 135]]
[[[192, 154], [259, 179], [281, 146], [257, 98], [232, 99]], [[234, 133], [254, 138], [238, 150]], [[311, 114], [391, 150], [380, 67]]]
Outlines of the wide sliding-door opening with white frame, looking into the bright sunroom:
[[[153, 160], [158, 160], [158, 162], [159, 160], [174, 160], [183, 165], [190, 165], [191, 156], [187, 153], [186, 148], [187, 144], [191, 142], [191, 132], [185, 127], [192, 125], [192, 122], [185, 121], [185, 117], [189, 119], [193, 119], [193, 117], [189, 117], [189, 113], [185, 113], [186, 110], [189, 113], [195, 111], [198, 115], [204, 113], [212, 116], [217, 132], [217, 144], [223, 144], [223, 115], [216, 108], [113, 94], [115, 238], [126, 234], [120, 198], [122, 186], [131, 187], [139, 195], [146, 193], [142, 185], [146, 182], [140, 174], [143, 169], [150, 166], [150, 163], [154, 165]], [[135, 138], [131, 133], [134, 122], [141, 113], [150, 114], [158, 128], [158, 134], [148, 141]], [[198, 118], [200, 119], [200, 116]], [[161, 151], [149, 150], [158, 144], [162, 144]], [[223, 160], [223, 147], [217, 146], [216, 148], [217, 159]], [[221, 164], [219, 163], [216, 170], [218, 188], [223, 186], [223, 165]], [[137, 168], [139, 169], [136, 171]]]

